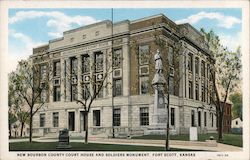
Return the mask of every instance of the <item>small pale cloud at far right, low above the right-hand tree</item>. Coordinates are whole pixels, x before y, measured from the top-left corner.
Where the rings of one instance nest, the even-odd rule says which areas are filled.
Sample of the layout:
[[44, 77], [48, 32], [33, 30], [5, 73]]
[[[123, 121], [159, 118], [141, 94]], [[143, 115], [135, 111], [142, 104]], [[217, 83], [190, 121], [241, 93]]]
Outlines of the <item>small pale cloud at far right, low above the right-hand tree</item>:
[[227, 47], [230, 51], [236, 51], [239, 46], [242, 46], [242, 33], [238, 32], [234, 35], [225, 35], [223, 33], [219, 33], [220, 43]]

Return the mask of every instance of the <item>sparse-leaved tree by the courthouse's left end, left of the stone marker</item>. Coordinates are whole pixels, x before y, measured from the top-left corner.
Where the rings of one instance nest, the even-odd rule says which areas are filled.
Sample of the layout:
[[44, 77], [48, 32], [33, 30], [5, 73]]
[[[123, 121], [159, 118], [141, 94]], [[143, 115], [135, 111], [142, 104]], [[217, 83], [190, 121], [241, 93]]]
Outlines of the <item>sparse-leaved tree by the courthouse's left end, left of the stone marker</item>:
[[[27, 105], [30, 127], [29, 142], [32, 142], [33, 116], [45, 104], [45, 101], [41, 100], [41, 94], [49, 89], [48, 79], [42, 81], [40, 73], [40, 65], [33, 64], [31, 60], [21, 60], [16, 72], [12, 72], [9, 79], [9, 85], [12, 86], [10, 98], [16, 99], [15, 96], [18, 96], [19, 99], [16, 99], [16, 102], [23, 102]], [[21, 117], [25, 120], [27, 115], [24, 114], [24, 117], [23, 115]]]

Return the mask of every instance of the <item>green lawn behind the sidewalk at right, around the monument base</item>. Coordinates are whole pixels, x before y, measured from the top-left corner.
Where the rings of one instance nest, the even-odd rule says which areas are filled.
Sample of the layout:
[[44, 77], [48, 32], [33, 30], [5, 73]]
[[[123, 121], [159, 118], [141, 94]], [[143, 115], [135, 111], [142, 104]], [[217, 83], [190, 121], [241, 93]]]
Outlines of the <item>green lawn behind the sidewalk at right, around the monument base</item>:
[[[205, 141], [208, 140], [210, 136], [213, 136], [214, 139], [217, 139], [216, 133], [209, 133], [209, 134], [199, 134], [198, 141]], [[133, 139], [154, 139], [154, 140], [164, 140], [165, 135], [145, 135], [140, 137], [133, 137]], [[179, 135], [170, 135], [170, 140], [181, 140], [181, 141], [189, 141], [188, 134], [179, 134]], [[233, 146], [242, 147], [242, 135], [238, 134], [224, 134], [223, 141], [220, 143], [229, 144]]]

